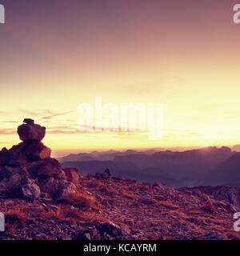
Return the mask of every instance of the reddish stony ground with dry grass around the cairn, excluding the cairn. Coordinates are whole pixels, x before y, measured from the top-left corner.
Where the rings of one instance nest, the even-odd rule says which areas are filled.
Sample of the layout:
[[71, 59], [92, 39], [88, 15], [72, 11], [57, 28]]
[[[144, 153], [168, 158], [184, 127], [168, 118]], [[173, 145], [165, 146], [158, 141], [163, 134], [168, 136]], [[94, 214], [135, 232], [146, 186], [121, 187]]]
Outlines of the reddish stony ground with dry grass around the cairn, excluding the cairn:
[[[226, 201], [99, 174], [82, 177], [79, 205], [0, 199], [0, 239], [239, 239]], [[83, 193], [83, 194], [84, 194]]]

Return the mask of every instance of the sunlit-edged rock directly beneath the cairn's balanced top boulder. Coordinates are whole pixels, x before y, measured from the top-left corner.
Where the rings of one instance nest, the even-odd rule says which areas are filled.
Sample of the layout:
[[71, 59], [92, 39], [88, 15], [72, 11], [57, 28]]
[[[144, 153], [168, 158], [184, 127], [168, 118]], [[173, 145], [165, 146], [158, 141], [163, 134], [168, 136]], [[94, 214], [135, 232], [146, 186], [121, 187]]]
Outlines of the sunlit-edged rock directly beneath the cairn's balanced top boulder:
[[30, 161], [38, 161], [50, 158], [51, 150], [44, 146], [42, 142], [33, 141], [26, 146], [25, 155]]

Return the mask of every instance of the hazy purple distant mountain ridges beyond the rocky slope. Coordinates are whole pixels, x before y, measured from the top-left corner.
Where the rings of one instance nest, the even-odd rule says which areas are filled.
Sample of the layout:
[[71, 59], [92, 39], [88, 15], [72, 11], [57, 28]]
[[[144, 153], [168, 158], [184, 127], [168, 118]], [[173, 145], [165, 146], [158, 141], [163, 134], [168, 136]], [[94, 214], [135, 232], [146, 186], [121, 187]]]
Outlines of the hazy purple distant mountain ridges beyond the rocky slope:
[[[240, 154], [226, 146], [181, 152], [171, 150], [94, 151], [70, 154], [61, 158], [60, 161], [63, 166], [77, 167], [83, 175], [94, 174], [109, 168], [115, 176], [133, 178], [140, 182], [157, 181], [166, 186], [231, 186], [233, 181], [237, 186], [238, 183], [240, 184], [240, 174], [238, 174]], [[222, 167], [227, 163], [228, 170]], [[227, 178], [229, 169], [233, 172], [232, 178]], [[221, 173], [220, 176], [218, 172]]]

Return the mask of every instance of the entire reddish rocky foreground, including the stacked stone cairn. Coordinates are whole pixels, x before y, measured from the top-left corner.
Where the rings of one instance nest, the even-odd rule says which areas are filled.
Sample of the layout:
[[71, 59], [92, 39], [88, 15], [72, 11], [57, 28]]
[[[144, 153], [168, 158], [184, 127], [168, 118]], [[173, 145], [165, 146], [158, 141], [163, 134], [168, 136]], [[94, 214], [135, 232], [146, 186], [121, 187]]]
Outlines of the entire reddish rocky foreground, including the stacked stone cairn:
[[46, 128], [26, 118], [22, 140], [0, 151], [0, 239], [239, 239], [233, 230], [239, 193], [219, 188], [174, 190], [113, 178], [80, 177], [62, 168], [42, 143]]

